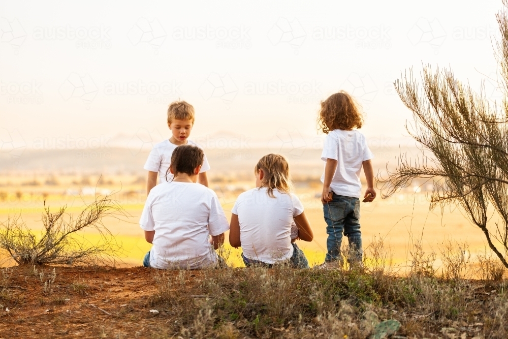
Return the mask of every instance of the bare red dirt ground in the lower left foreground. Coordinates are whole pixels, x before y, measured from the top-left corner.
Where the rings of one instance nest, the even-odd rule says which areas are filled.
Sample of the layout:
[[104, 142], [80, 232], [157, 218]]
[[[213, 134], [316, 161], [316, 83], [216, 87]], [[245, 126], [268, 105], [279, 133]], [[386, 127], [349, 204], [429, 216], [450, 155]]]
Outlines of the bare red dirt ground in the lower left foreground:
[[[0, 338], [149, 337], [167, 321], [164, 312], [149, 312], [148, 297], [156, 292], [153, 269], [55, 267], [46, 292], [33, 267], [9, 271], [7, 294], [0, 298]], [[43, 281], [52, 271], [44, 267]]]

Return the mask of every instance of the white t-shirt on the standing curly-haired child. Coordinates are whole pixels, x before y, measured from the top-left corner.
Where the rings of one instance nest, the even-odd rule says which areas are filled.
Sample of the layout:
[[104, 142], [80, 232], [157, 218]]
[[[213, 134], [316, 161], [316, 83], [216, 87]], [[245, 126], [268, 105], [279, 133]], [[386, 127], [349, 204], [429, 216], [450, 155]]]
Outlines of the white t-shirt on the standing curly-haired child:
[[[325, 138], [321, 160], [337, 160], [337, 169], [332, 178], [330, 189], [338, 195], [360, 198], [362, 183], [360, 172], [362, 162], [374, 158], [367, 145], [365, 136], [358, 130], [333, 130]], [[326, 167], [326, 164], [325, 164]], [[321, 176], [325, 182], [325, 173]]]

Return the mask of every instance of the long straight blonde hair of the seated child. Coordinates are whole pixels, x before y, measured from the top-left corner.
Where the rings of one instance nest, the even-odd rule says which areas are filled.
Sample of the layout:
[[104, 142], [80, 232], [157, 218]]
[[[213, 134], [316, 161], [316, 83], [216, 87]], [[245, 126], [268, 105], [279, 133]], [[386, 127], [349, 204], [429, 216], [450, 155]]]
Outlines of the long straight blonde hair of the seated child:
[[266, 187], [268, 196], [275, 198], [273, 195], [275, 189], [281, 193], [291, 193], [293, 191], [289, 164], [283, 156], [273, 153], [267, 154], [259, 160], [254, 168], [254, 173], [258, 174], [260, 169], [264, 173], [261, 187]]

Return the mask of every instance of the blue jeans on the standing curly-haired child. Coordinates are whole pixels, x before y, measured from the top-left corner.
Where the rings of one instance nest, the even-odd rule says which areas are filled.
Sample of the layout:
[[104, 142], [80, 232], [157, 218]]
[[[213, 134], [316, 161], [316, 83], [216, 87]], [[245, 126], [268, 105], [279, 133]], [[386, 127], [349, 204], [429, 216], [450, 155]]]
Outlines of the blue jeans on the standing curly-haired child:
[[360, 232], [360, 199], [332, 193], [332, 201], [323, 205], [327, 224], [325, 262], [342, 260], [340, 245], [342, 232], [350, 245], [350, 261], [362, 260], [362, 232]]

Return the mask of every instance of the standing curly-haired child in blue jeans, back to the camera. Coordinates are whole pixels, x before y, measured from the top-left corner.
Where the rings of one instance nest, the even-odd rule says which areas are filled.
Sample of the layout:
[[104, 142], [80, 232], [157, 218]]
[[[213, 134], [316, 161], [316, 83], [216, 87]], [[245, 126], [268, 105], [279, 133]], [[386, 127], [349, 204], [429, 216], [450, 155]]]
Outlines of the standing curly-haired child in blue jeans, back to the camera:
[[327, 224], [328, 253], [326, 267], [341, 265], [340, 245], [342, 232], [350, 245], [350, 260], [362, 260], [362, 233], [360, 232], [360, 197], [362, 184], [360, 172], [363, 167], [367, 180], [365, 202], [376, 197], [372, 159], [365, 136], [358, 131], [363, 118], [353, 98], [340, 91], [321, 102], [318, 124], [327, 134], [321, 160], [325, 172], [321, 177], [323, 193], [321, 202]]

